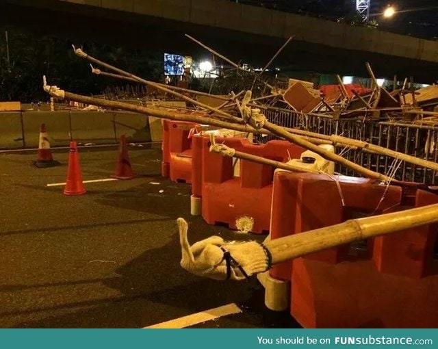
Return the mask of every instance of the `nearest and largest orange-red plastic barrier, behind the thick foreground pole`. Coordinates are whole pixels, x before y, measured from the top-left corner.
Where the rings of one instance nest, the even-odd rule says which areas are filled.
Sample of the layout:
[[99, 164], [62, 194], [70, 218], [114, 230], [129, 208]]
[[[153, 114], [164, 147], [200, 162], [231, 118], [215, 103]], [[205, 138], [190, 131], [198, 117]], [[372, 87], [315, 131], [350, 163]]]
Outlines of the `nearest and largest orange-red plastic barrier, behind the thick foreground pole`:
[[[348, 177], [339, 186], [344, 204], [324, 175], [277, 173], [272, 238], [404, 209], [401, 187]], [[433, 203], [438, 195], [416, 190], [415, 207]], [[290, 312], [307, 328], [435, 328], [436, 235], [434, 224], [330, 248], [276, 266], [271, 275], [292, 280]]]

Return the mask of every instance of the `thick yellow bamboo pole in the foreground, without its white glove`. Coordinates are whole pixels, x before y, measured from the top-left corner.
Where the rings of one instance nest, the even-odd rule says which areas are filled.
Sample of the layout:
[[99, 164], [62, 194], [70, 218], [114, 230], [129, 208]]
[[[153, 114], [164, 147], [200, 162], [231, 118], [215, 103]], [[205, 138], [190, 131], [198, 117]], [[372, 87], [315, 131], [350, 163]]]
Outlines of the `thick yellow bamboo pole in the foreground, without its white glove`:
[[270, 240], [265, 245], [272, 255], [272, 263], [275, 264], [326, 248], [437, 222], [438, 204], [435, 204], [391, 214], [347, 220], [331, 227]]

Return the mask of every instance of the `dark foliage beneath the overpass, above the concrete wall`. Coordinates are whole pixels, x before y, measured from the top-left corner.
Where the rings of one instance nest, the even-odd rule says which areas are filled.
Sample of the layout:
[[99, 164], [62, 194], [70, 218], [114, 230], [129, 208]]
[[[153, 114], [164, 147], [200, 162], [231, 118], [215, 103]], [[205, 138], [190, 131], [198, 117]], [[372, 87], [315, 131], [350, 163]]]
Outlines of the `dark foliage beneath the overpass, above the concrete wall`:
[[[9, 61], [5, 31], [8, 31]], [[92, 75], [88, 62], [77, 57], [65, 39], [0, 28], [0, 101], [47, 101], [42, 75], [51, 85], [79, 94], [101, 94], [107, 86], [125, 86], [126, 81]], [[146, 53], [86, 42], [83, 50], [107, 63], [145, 79], [162, 77], [162, 53]]]

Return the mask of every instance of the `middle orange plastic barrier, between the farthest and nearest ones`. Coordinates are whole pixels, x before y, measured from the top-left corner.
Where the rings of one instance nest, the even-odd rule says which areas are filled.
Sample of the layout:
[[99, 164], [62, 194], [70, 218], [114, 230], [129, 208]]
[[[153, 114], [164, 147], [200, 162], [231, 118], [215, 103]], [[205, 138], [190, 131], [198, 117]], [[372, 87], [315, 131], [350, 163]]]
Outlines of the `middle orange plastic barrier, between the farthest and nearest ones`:
[[[305, 149], [290, 142], [272, 140], [266, 144], [250, 144], [243, 138], [217, 138], [237, 151], [287, 161], [297, 159]], [[263, 233], [270, 228], [272, 198], [271, 166], [240, 161], [240, 177], [234, 177], [233, 159], [209, 152], [209, 140], [195, 135], [193, 139], [192, 194], [202, 196], [202, 216], [208, 224], [227, 223], [236, 229], [242, 216], [253, 218], [251, 231]]]

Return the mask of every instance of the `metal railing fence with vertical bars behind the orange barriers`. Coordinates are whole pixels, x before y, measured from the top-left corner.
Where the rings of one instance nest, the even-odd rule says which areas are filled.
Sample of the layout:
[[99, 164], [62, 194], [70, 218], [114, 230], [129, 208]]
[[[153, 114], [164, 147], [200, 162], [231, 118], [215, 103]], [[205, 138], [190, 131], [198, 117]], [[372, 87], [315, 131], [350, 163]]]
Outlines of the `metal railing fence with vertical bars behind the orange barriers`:
[[[327, 116], [309, 116], [276, 107], [268, 107], [263, 112], [270, 122], [283, 127], [324, 135], [343, 135], [429, 161], [437, 162], [438, 160], [438, 127], [410, 124], [400, 120], [370, 120], [363, 116], [334, 120]], [[275, 137], [271, 135], [255, 136], [255, 141], [261, 143], [272, 139]], [[438, 174], [433, 170], [415, 166], [406, 161], [398, 161], [393, 157], [365, 153], [348, 147], [337, 147], [336, 152], [370, 170], [387, 175], [393, 174], [393, 177], [400, 181], [415, 181], [427, 185], [438, 183]], [[336, 170], [341, 174], [357, 175], [339, 165], [336, 166]]]

